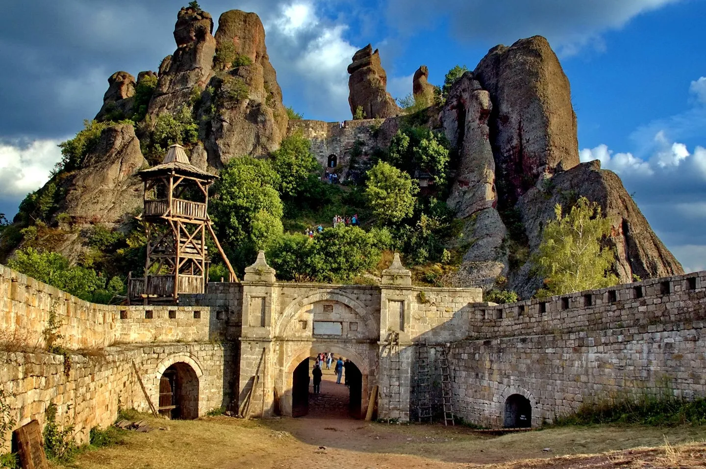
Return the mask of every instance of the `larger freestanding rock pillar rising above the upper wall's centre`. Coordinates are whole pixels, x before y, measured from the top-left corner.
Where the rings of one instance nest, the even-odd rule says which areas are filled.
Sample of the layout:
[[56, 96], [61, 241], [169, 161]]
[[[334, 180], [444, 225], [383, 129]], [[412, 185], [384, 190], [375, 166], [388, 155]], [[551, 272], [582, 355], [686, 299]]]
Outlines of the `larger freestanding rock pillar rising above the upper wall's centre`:
[[348, 104], [355, 116], [358, 107], [363, 108], [366, 119], [394, 117], [400, 107], [387, 91], [388, 76], [380, 63], [378, 49], [373, 52], [370, 44], [353, 55], [348, 66]]

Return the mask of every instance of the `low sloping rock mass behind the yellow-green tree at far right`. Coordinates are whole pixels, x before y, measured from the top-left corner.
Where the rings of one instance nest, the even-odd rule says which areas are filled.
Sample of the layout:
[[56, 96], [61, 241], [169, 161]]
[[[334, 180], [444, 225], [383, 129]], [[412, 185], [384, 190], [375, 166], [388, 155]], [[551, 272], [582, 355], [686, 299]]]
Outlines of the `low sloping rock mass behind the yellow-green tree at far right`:
[[[571, 198], [585, 196], [599, 203], [602, 213], [611, 220], [609, 242], [616, 249], [616, 272], [621, 283], [632, 282], [633, 274], [647, 279], [683, 273], [681, 264], [654, 234], [618, 175], [601, 170], [598, 160], [558, 173], [546, 184], [546, 189], [532, 188], [520, 198], [517, 208], [522, 215], [531, 251], [542, 242], [542, 227], [546, 220], [556, 218], [556, 203], [566, 206], [567, 194]], [[522, 297], [527, 297], [532, 287], [537, 286], [537, 280], [528, 283], [529, 273], [521, 271], [520, 274], [511, 279], [511, 284]], [[528, 289], [531, 284], [534, 285]]]

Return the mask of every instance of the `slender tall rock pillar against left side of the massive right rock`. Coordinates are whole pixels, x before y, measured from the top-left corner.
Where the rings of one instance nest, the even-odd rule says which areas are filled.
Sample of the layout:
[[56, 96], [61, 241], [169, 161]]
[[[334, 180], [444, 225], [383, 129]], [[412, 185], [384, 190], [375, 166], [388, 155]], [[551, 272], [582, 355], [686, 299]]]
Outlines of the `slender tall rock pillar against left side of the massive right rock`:
[[453, 247], [469, 245], [459, 270], [448, 280], [486, 290], [498, 275], [507, 273], [508, 266], [502, 249], [507, 230], [496, 210], [495, 161], [488, 128], [492, 107], [489, 93], [472, 73], [465, 73], [451, 88], [440, 119], [446, 138], [459, 151], [456, 178], [446, 201], [464, 223]]

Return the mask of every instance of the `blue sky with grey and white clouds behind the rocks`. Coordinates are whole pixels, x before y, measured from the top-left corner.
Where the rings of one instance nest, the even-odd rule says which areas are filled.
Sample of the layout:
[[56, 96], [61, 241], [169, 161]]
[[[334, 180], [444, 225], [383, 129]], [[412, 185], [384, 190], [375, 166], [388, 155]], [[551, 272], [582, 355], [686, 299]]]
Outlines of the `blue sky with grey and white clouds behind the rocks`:
[[[42, 186], [115, 71], [157, 70], [184, 1], [7, 0], [0, 30], [0, 213]], [[706, 270], [706, 0], [202, 0], [254, 11], [285, 105], [350, 118], [346, 67], [380, 49], [388, 91], [443, 83], [496, 44], [543, 35], [571, 83], [582, 161], [617, 172], [686, 271]], [[214, 30], [215, 32], [215, 30]]]

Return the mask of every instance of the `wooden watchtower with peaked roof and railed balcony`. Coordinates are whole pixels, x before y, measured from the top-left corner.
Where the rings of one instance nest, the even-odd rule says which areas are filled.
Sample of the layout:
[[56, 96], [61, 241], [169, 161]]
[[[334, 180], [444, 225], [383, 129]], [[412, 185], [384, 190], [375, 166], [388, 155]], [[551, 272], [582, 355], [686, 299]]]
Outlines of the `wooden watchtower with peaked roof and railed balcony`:
[[206, 231], [236, 275], [208, 216], [208, 187], [214, 174], [191, 165], [184, 147], [169, 147], [161, 165], [138, 172], [145, 184], [143, 220], [147, 231], [145, 277], [128, 279], [128, 302], [172, 303], [179, 294], [204, 293], [210, 258]]

